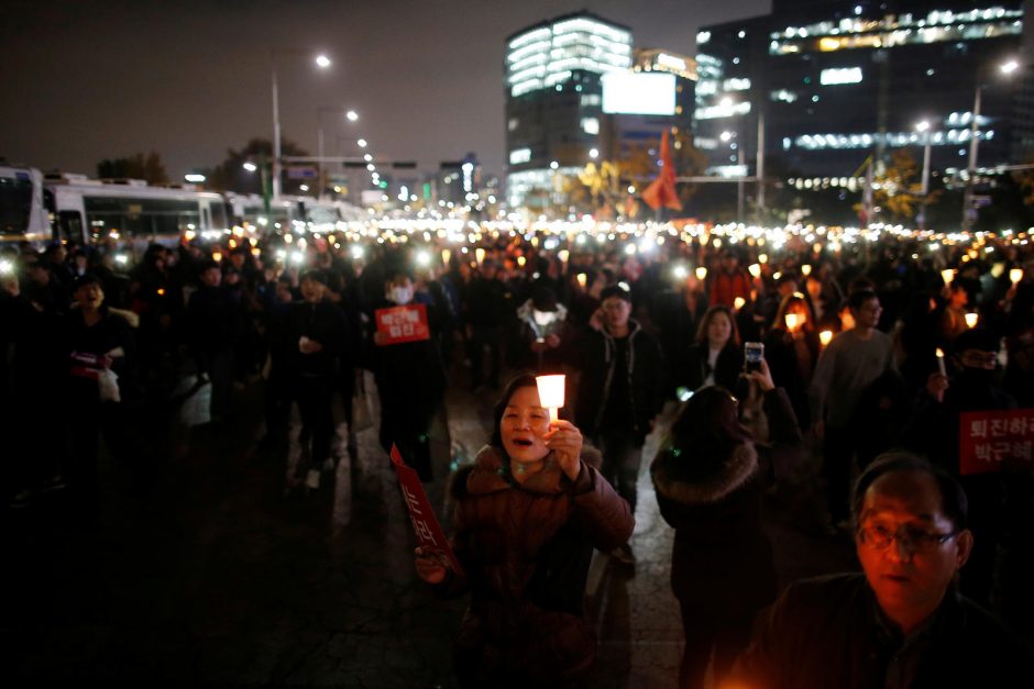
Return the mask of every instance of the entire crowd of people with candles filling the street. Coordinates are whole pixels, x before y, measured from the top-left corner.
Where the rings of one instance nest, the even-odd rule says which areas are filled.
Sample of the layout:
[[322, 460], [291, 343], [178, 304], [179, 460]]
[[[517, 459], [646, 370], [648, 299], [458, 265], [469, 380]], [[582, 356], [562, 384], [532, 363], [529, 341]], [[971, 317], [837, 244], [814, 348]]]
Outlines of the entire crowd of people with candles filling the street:
[[[773, 659], [777, 652], [795, 653], [780, 624], [822, 597], [855, 601], [866, 590], [898, 635], [897, 649], [881, 647], [883, 660], [908, 649], [905, 669], [895, 670], [904, 680], [893, 686], [912, 686], [933, 644], [909, 649], [912, 632], [928, 630], [933, 613], [912, 626], [895, 616], [901, 605], [886, 579], [911, 575], [872, 574], [872, 552], [911, 567], [927, 551], [957, 548], [954, 569], [944, 565], [948, 574], [932, 585], [939, 593], [931, 610], [954, 600], [968, 562], [959, 596], [1030, 630], [1030, 442], [1025, 456], [1018, 444], [993, 471], [964, 473], [958, 459], [964, 412], [1034, 407], [1027, 246], [1007, 236], [930, 251], [926, 240], [888, 233], [835, 249], [792, 236], [769, 252], [755, 237], [724, 238], [662, 233], [637, 244], [485, 232], [476, 246], [311, 237], [292, 247], [271, 236], [154, 244], [132, 266], [102, 247], [3, 249], [0, 420], [19, 431], [9, 435], [19, 440], [4, 471], [11, 509], [54, 490], [100, 499], [99, 437], [117, 459], [132, 454], [125, 415], [167, 400], [185, 377], [211, 386], [216, 424], [240, 413], [239, 384], [261, 382], [261, 442], [275, 449], [286, 451], [297, 405], [302, 459], [288, 491], [318, 490], [333, 470], [336, 405], [356, 452], [364, 370], [381, 401], [382, 446], [397, 445], [425, 481], [446, 478], [435, 476], [430, 426], [448, 386], [484, 399], [502, 393], [491, 442], [452, 477], [465, 575], [426, 554], [418, 571], [443, 592], [471, 592], [457, 655], [465, 684], [576, 685], [592, 657], [579, 622], [587, 557], [594, 546], [635, 566], [642, 449], [666, 403], [680, 404], [650, 474], [675, 530], [682, 686], [703, 686], [708, 665], [716, 681], [735, 675], [748, 645], [736, 667], [778, 675], [773, 664], [788, 660]], [[393, 341], [378, 313], [413, 305], [427, 335]], [[745, 356], [745, 343], [763, 356]], [[543, 418], [532, 379], [504, 390], [510, 371], [566, 374], [563, 420]], [[56, 413], [58, 396], [75, 413]], [[30, 440], [40, 437], [51, 442]], [[877, 460], [888, 452], [898, 453], [890, 470], [886, 456]], [[888, 471], [906, 476], [894, 482]], [[867, 579], [802, 585], [777, 601], [761, 501], [794, 481], [821, 487], [815, 527], [854, 536]], [[888, 521], [870, 504], [884, 484], [901, 500], [915, 496], [899, 484], [920, 487], [936, 504], [888, 508]], [[960, 508], [952, 507], [956, 486]], [[909, 510], [930, 523], [905, 523]], [[534, 523], [518, 529], [518, 516]], [[759, 618], [766, 636], [751, 642], [751, 621], [773, 601]]]

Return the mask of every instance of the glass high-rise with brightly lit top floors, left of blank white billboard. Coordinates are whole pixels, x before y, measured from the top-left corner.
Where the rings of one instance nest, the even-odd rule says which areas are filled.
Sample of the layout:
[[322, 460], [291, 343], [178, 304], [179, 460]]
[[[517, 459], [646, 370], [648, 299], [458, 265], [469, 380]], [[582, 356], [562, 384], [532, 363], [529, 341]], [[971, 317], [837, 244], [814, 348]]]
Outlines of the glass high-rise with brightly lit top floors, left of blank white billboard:
[[632, 65], [631, 30], [587, 12], [506, 38], [507, 200], [544, 208], [598, 155], [602, 76]]

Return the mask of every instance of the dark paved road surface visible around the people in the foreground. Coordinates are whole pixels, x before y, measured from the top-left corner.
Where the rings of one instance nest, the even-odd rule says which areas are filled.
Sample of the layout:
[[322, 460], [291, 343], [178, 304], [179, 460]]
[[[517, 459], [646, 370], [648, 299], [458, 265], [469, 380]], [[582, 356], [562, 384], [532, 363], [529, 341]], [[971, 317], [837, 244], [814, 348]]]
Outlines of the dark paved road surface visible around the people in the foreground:
[[[355, 459], [342, 443], [332, 486], [285, 496], [294, 457], [257, 446], [260, 386], [237, 398], [235, 421], [205, 423], [207, 387], [185, 384], [182, 403], [132, 422], [138, 449], [129, 466], [106, 460], [96, 508], [52, 493], [6, 513], [0, 644], [16, 685], [454, 686], [463, 601], [440, 601], [415, 577], [375, 430], [359, 434]], [[453, 448], [473, 454], [491, 401], [450, 390], [432, 436], [438, 477], [452, 460], [444, 429]], [[674, 687], [678, 675], [672, 532], [647, 464], [635, 570], [597, 555], [590, 577], [597, 687]], [[443, 505], [444, 480], [428, 492]], [[767, 507], [784, 581], [854, 566], [848, 543], [802, 527], [811, 503], [789, 496]]]

